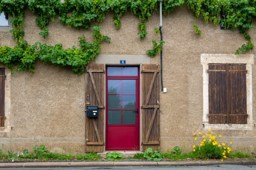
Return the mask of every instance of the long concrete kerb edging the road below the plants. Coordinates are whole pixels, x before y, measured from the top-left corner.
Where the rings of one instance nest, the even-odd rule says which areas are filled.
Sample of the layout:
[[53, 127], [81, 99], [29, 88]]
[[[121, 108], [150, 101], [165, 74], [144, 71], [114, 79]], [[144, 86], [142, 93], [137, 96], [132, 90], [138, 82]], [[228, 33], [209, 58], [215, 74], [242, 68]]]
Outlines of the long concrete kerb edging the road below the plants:
[[84, 166], [196, 166], [196, 165], [256, 165], [256, 160], [250, 161], [165, 161], [165, 162], [28, 162], [0, 163], [0, 168], [14, 167], [84, 167]]

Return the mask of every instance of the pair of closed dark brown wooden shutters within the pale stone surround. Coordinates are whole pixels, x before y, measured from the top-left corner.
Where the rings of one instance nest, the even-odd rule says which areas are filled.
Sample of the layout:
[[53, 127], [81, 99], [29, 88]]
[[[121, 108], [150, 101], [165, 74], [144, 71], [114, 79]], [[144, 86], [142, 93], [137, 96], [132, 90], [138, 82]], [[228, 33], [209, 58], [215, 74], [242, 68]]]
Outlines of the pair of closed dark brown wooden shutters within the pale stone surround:
[[209, 64], [209, 123], [247, 124], [246, 64]]

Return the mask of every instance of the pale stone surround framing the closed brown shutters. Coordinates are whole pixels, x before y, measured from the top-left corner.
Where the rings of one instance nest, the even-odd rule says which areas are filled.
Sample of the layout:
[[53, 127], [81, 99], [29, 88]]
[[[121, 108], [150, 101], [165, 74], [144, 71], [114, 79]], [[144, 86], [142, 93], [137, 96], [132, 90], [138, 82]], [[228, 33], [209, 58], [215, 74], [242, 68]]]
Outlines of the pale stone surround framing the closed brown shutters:
[[[203, 121], [206, 129], [213, 130], [253, 130], [252, 117], [252, 67], [254, 64], [253, 54], [201, 54], [203, 65]], [[247, 124], [209, 124], [209, 74], [207, 73], [209, 63], [246, 64], [246, 91], [247, 91]]]

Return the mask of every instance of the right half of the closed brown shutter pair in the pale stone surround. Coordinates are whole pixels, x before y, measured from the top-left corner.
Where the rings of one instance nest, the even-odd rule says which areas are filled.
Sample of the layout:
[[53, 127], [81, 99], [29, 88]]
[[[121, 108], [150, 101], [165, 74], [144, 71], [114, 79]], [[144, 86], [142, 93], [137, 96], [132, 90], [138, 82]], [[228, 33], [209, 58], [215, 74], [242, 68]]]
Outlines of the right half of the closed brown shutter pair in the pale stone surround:
[[247, 124], [246, 64], [229, 64], [228, 123]]

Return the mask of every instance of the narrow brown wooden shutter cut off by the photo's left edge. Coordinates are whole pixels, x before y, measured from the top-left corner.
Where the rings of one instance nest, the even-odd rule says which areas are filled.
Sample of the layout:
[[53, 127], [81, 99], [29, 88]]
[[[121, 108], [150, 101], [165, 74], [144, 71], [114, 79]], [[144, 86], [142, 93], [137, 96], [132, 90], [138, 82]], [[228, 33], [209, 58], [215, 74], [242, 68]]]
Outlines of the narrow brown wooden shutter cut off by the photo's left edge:
[[0, 127], [5, 126], [5, 68], [0, 68]]

